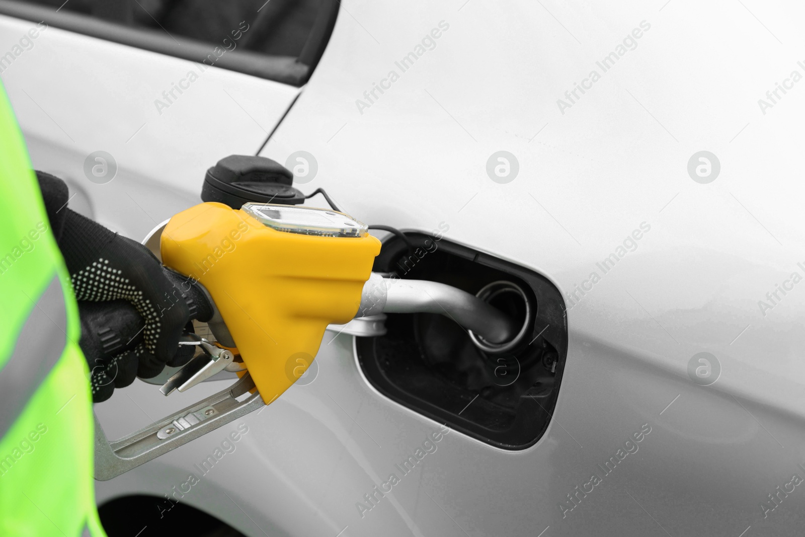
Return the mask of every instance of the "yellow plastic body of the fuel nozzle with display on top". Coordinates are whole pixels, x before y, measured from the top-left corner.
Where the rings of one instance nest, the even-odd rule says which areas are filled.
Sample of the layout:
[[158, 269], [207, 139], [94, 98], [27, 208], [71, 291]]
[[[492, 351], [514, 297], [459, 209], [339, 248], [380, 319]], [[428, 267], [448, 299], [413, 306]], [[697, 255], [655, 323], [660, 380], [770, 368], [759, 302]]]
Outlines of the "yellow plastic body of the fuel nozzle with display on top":
[[171, 218], [160, 250], [206, 287], [270, 403], [310, 366], [327, 325], [355, 316], [380, 242], [343, 213], [203, 203]]

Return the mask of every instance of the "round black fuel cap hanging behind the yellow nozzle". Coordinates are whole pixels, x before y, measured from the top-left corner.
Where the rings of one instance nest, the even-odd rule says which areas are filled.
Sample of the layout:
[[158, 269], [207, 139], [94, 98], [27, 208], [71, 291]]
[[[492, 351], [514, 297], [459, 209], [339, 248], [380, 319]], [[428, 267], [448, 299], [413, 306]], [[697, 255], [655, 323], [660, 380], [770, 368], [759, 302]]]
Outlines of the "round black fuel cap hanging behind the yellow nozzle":
[[294, 174], [266, 157], [229, 155], [207, 170], [201, 200], [240, 209], [247, 201], [296, 205], [304, 194], [293, 188]]

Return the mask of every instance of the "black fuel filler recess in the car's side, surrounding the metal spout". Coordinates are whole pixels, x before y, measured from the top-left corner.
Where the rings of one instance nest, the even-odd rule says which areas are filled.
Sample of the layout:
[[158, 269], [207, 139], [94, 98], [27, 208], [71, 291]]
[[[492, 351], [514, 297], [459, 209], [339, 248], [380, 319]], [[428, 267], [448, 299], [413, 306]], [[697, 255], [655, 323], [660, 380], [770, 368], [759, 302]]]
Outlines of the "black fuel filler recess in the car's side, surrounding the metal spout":
[[496, 347], [444, 312], [387, 312], [384, 335], [357, 338], [365, 377], [397, 403], [487, 444], [535, 444], [553, 415], [567, 356], [559, 290], [534, 271], [466, 246], [421, 233], [406, 238], [410, 245], [398, 236], [383, 243], [374, 272], [477, 295], [521, 333], [514, 345]]

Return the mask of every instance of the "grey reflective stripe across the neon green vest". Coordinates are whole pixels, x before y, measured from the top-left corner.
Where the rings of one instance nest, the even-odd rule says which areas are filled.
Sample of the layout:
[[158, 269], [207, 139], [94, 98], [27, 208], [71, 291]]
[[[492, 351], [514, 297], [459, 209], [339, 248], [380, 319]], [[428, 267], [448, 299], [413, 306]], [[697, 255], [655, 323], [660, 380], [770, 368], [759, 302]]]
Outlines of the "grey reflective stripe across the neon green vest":
[[0, 370], [0, 438], [23, 411], [67, 343], [67, 309], [59, 277], [55, 276], [36, 301]]

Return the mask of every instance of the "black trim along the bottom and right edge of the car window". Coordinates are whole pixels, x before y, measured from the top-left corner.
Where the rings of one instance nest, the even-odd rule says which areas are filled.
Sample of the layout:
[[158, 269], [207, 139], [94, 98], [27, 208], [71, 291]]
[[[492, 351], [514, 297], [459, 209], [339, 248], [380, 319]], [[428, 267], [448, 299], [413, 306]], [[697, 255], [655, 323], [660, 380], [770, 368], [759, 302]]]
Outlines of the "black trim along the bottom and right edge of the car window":
[[[131, 28], [107, 20], [96, 19], [85, 14], [69, 11], [56, 11], [47, 6], [39, 6], [14, 0], [0, 0], [0, 14], [16, 19], [26, 19], [49, 27], [74, 31], [114, 43], [159, 52], [198, 63], [203, 62], [213, 52], [216, 45], [184, 36], [168, 35], [165, 31], [151, 28]], [[316, 16], [316, 21], [299, 58], [293, 56], [266, 56], [259, 52], [234, 50], [218, 58], [214, 66], [230, 71], [258, 76], [270, 81], [299, 87], [304, 85], [313, 69], [316, 68], [324, 48], [326, 48], [338, 14], [338, 0], [324, 0]], [[180, 39], [181, 44], [176, 39]]]

